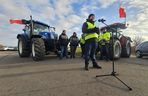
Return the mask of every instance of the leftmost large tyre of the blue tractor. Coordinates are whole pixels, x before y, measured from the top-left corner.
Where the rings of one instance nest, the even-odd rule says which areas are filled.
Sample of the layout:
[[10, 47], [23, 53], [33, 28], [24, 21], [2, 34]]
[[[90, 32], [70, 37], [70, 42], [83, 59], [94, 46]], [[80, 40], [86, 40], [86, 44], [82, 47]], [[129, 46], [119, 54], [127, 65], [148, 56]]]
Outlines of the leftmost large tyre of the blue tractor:
[[27, 42], [24, 38], [18, 38], [18, 54], [20, 57], [29, 57], [30, 49], [27, 47]]

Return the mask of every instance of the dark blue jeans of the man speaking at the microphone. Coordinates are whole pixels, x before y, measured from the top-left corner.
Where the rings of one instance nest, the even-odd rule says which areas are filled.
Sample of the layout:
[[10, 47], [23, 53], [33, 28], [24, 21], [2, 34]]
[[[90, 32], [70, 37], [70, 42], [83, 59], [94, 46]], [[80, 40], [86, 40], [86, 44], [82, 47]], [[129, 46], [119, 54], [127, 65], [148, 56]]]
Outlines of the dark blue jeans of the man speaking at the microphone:
[[96, 39], [90, 39], [85, 42], [85, 63], [89, 63], [91, 59], [92, 63], [96, 62], [96, 49], [98, 47], [98, 42]]

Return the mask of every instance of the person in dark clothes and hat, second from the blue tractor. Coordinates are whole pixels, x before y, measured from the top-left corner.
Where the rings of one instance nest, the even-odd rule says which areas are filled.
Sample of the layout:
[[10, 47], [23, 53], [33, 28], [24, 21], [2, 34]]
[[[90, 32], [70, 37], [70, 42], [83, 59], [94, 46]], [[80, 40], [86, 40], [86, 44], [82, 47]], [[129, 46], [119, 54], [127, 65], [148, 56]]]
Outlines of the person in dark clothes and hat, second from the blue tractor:
[[76, 49], [79, 44], [79, 38], [77, 37], [76, 32], [73, 33], [69, 41], [70, 41], [70, 58], [75, 58]]

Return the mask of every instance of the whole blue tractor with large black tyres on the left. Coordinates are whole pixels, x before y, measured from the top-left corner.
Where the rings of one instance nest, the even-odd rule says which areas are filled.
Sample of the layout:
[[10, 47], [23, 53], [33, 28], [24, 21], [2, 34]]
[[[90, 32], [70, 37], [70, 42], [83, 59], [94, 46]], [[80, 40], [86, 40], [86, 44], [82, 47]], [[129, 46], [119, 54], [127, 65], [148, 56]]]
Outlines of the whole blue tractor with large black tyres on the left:
[[18, 54], [20, 57], [32, 56], [34, 61], [43, 60], [50, 52], [58, 54], [58, 35], [55, 28], [32, 20], [22, 20], [24, 33], [18, 34]]

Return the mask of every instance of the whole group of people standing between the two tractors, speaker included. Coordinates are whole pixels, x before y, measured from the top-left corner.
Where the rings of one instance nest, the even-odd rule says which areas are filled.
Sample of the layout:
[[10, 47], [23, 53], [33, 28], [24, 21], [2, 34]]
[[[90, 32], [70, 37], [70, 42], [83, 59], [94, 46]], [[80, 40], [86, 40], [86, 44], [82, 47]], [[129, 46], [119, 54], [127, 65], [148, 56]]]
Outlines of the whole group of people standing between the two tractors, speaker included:
[[[100, 31], [102, 34], [100, 34]], [[70, 43], [70, 58], [75, 58], [75, 52], [77, 46], [81, 45], [82, 57], [85, 59], [85, 70], [89, 70], [89, 60], [91, 59], [93, 68], [101, 69], [102, 67], [96, 61], [96, 50], [100, 50], [100, 59], [109, 60], [109, 42], [110, 42], [110, 32], [105, 28], [99, 30], [95, 25], [95, 15], [90, 14], [82, 26], [82, 35], [79, 40], [76, 32], [68, 38], [66, 35], [66, 30], [63, 30], [62, 34], [59, 36], [60, 44], [60, 59], [63, 57], [68, 57], [67, 46]]]

